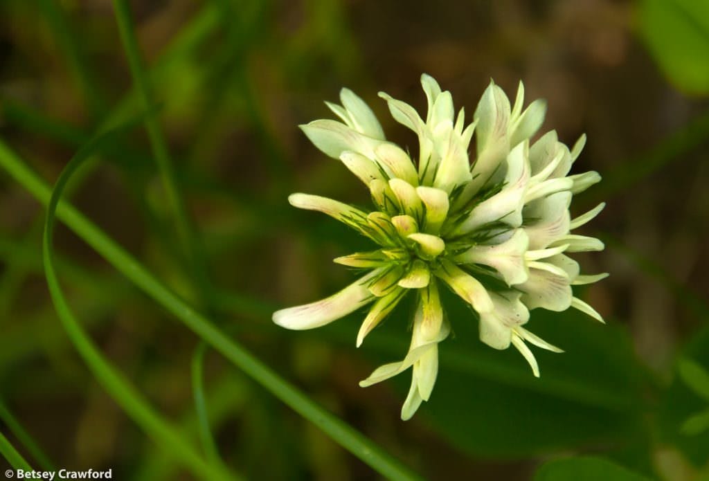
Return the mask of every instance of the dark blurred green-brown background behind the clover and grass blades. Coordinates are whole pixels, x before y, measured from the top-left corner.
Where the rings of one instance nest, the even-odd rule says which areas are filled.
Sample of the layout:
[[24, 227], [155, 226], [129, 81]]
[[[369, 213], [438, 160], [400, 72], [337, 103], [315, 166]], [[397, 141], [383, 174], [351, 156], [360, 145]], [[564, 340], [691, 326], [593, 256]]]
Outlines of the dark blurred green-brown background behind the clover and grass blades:
[[[652, 477], [708, 470], [709, 435], [679, 426], [707, 403], [674, 360], [709, 366], [709, 7], [690, 0], [131, 2], [157, 114], [208, 259], [205, 310], [320, 404], [436, 480], [526, 480], [545, 460], [598, 454]], [[693, 10], [694, 9], [694, 10]], [[573, 144], [574, 173], [604, 181], [590, 225], [607, 249], [577, 256], [610, 278], [577, 312], [532, 312], [530, 329], [566, 351], [539, 353], [535, 380], [517, 353], [477, 341], [449, 300], [454, 337], [437, 387], [413, 420], [398, 410], [408, 373], [357, 382], [408, 347], [401, 312], [359, 350], [361, 313], [313, 332], [272, 325], [273, 310], [335, 292], [352, 273], [330, 262], [366, 245], [337, 222], [291, 208], [306, 191], [366, 204], [367, 192], [311, 145], [298, 124], [330, 118], [342, 86], [364, 98], [387, 136], [415, 149], [376, 96], [425, 108], [420, 74], [471, 119], [490, 79], [527, 103], [548, 101], [543, 131]], [[0, 138], [54, 182], [108, 119], [137, 115], [107, 0], [0, 4]], [[137, 127], [70, 188], [74, 205], [191, 302], [198, 293]], [[189, 479], [91, 377], [69, 343], [41, 264], [44, 209], [0, 174], [0, 397], [57, 465], [113, 468], [118, 479]], [[62, 284], [106, 356], [194, 434], [190, 362], [198, 339], [57, 226]], [[406, 311], [404, 309], [403, 311]], [[208, 409], [223, 458], [249, 479], [373, 479], [366, 465], [215, 353]], [[0, 424], [1, 426], [1, 424]], [[189, 426], [192, 426], [191, 428]], [[186, 431], [188, 432], [188, 431]], [[12, 438], [12, 437], [11, 437]], [[4, 461], [0, 462], [0, 464]], [[702, 474], [704, 473], [704, 474]]]

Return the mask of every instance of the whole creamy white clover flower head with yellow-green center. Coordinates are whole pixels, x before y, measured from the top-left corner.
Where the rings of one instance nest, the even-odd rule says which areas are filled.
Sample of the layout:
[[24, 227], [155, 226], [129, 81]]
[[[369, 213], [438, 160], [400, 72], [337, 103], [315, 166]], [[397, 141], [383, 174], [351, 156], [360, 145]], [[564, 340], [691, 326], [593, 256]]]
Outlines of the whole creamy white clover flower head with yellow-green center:
[[[523, 110], [520, 82], [514, 106], [492, 81], [465, 125], [451, 94], [430, 76], [421, 84], [428, 99], [426, 118], [407, 103], [380, 93], [395, 120], [418, 135], [418, 159], [389, 142], [372, 110], [348, 89], [342, 105], [327, 103], [342, 122], [314, 120], [301, 125], [313, 144], [339, 159], [369, 188], [375, 209], [359, 210], [337, 200], [295, 193], [292, 205], [318, 210], [344, 222], [377, 244], [369, 252], [335, 262], [369, 270], [329, 298], [279, 310], [276, 324], [311, 329], [371, 304], [357, 346], [409, 293], [417, 297], [411, 348], [403, 361], [386, 364], [363, 380], [379, 383], [412, 368], [411, 390], [401, 410], [409, 419], [428, 400], [438, 371], [438, 343], [450, 332], [439, 290], [447, 285], [471, 305], [480, 339], [495, 349], [515, 346], [539, 377], [527, 343], [562, 352], [527, 331], [530, 309], [563, 311], [576, 307], [603, 322], [598, 312], [575, 298], [571, 285], [607, 274], [581, 275], [566, 254], [600, 251], [593, 237], [571, 234], [604, 207], [571, 220], [574, 194], [601, 180], [597, 172], [567, 176], [584, 147], [582, 136], [569, 150], [553, 130], [530, 145], [544, 120], [546, 104]], [[469, 145], [476, 138], [476, 155]]]

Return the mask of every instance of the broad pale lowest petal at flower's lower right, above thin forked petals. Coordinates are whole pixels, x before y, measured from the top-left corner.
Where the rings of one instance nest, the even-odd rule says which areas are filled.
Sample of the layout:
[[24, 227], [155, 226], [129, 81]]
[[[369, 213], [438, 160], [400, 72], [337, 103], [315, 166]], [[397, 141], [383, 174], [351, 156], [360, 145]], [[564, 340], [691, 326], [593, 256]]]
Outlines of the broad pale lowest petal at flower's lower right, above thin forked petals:
[[513, 328], [529, 320], [530, 313], [520, 301], [520, 293], [503, 296], [490, 293], [494, 308], [480, 315], [480, 340], [494, 349], [507, 349]]

